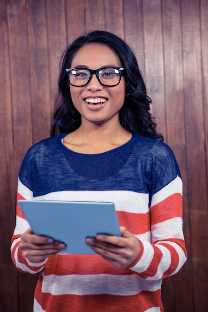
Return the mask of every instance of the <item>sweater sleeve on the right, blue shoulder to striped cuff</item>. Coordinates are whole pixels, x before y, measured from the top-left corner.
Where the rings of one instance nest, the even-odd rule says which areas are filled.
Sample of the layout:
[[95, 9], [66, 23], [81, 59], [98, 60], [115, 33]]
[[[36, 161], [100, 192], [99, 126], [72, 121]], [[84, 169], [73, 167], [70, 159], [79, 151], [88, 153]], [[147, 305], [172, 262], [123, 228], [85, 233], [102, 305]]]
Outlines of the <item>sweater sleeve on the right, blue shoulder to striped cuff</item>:
[[150, 201], [152, 242], [139, 239], [141, 252], [130, 267], [147, 280], [159, 280], [176, 274], [187, 260], [180, 170], [168, 147], [155, 155]]

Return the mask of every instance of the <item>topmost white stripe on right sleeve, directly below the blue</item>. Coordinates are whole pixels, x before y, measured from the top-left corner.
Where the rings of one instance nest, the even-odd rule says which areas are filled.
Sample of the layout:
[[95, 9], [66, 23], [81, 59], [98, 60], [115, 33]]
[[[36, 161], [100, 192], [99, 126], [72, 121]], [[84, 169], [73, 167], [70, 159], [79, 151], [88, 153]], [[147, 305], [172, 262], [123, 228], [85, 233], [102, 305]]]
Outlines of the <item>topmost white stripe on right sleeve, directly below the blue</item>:
[[160, 191], [155, 193], [152, 197], [151, 207], [158, 204], [159, 202], [165, 200], [169, 196], [183, 192], [182, 179], [177, 176], [172, 182], [163, 187]]

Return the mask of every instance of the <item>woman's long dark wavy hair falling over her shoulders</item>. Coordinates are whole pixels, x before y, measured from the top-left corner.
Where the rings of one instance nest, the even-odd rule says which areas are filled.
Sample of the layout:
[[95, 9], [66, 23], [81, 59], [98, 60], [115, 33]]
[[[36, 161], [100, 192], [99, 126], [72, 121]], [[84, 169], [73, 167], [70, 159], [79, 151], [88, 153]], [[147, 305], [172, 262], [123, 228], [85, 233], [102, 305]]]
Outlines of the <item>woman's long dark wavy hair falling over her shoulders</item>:
[[75, 39], [65, 50], [60, 61], [58, 79], [59, 92], [51, 121], [50, 135], [73, 132], [81, 125], [81, 115], [73, 105], [66, 68], [71, 67], [75, 53], [90, 43], [105, 44], [119, 56], [124, 67], [126, 93], [124, 104], [119, 111], [119, 120], [124, 129], [131, 133], [143, 134], [163, 141], [163, 135], [156, 132], [156, 123], [150, 114], [150, 97], [134, 53], [128, 44], [113, 33], [101, 30], [90, 31]]

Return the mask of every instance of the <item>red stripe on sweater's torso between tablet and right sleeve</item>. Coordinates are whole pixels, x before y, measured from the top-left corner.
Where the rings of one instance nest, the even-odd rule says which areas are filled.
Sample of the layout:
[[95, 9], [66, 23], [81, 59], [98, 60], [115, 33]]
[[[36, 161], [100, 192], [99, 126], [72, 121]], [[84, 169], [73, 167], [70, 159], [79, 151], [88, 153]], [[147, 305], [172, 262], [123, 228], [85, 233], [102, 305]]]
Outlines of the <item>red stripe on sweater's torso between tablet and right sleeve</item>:
[[125, 226], [132, 234], [144, 234], [150, 231], [150, 213], [132, 213], [117, 211], [120, 226]]

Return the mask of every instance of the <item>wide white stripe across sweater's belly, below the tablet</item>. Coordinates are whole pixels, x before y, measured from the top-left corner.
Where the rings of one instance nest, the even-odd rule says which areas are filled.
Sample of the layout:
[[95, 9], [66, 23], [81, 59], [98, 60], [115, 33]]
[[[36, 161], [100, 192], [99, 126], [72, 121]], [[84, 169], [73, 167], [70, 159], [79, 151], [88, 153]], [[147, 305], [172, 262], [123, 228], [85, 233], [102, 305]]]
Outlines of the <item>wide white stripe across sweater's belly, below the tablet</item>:
[[43, 276], [42, 292], [57, 295], [109, 294], [132, 296], [143, 291], [157, 291], [162, 281], [149, 282], [134, 275], [48, 275]]

